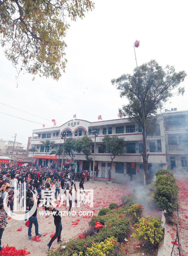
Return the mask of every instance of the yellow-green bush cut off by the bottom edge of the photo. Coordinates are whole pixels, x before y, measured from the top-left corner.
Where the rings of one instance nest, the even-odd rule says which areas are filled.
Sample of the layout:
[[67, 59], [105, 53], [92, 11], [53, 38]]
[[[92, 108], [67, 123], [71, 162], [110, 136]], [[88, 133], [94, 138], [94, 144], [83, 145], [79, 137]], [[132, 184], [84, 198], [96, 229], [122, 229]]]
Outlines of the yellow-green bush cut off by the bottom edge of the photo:
[[[114, 248], [119, 246], [116, 238], [108, 237], [101, 243], [93, 243], [91, 248], [87, 248], [86, 256], [100, 255], [100, 256], [110, 256], [114, 252]], [[82, 252], [74, 253], [73, 256], [82, 256]]]

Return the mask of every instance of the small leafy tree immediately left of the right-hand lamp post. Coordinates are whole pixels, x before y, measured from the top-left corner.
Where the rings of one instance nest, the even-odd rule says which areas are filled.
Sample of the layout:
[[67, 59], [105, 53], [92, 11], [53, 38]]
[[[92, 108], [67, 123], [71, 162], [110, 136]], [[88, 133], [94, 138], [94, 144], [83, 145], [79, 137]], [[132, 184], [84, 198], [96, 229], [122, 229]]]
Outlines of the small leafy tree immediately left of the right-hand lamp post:
[[81, 139], [76, 140], [76, 151], [82, 152], [85, 157], [86, 161], [89, 165], [90, 170], [90, 163], [93, 160], [92, 157], [89, 157], [91, 155], [91, 145], [93, 144], [92, 139], [88, 138], [88, 136], [83, 136]]

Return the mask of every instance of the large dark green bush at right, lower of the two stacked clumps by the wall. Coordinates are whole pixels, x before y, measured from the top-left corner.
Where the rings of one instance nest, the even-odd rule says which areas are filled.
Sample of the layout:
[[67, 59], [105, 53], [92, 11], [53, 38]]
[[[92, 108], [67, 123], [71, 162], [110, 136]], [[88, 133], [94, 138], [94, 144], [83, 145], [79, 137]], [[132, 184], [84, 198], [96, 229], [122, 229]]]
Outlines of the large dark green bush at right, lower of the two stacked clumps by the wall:
[[157, 186], [154, 191], [154, 200], [161, 211], [166, 210], [169, 216], [173, 216], [176, 209], [176, 185]]

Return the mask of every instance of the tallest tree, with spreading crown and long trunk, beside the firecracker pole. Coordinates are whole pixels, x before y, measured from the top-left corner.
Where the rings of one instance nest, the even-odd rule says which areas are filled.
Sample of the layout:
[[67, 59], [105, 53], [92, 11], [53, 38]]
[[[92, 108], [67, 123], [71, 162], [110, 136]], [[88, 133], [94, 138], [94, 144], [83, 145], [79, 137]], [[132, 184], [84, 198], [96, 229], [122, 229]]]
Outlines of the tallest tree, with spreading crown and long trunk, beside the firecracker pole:
[[162, 68], [157, 61], [151, 60], [135, 68], [133, 74], [124, 74], [117, 79], [112, 79], [112, 84], [120, 90], [120, 97], [126, 97], [129, 100], [129, 104], [119, 109], [121, 115], [138, 121], [142, 127], [143, 153], [141, 155], [147, 184], [150, 182], [150, 174], [146, 137], [147, 132], [150, 132], [150, 123], [157, 109], [161, 109], [162, 104], [174, 95], [174, 89], [177, 89], [177, 94], [183, 95], [185, 89], [179, 87], [179, 84], [185, 77], [185, 71], [175, 72], [175, 68], [169, 65]]

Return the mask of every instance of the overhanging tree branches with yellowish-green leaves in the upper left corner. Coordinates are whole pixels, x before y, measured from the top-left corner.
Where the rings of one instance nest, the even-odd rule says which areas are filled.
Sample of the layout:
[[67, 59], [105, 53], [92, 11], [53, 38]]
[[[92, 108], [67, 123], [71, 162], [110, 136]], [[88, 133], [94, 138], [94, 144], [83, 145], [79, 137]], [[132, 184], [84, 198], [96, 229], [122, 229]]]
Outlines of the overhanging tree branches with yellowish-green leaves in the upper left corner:
[[1, 46], [17, 67], [58, 80], [65, 72], [64, 37], [69, 21], [94, 8], [90, 0], [0, 0]]

